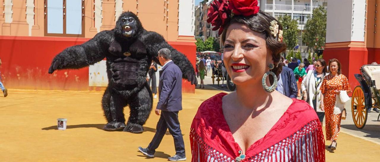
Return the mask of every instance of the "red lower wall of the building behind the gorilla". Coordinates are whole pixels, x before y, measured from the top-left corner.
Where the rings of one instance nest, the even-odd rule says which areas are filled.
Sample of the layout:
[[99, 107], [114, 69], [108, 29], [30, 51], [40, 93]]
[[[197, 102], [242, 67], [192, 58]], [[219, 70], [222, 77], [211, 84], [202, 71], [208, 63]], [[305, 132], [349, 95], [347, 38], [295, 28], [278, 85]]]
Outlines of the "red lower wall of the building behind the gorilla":
[[[47, 73], [51, 61], [63, 49], [82, 44], [89, 38], [0, 36], [0, 72], [6, 88], [40, 90], [100, 90], [89, 87], [88, 67]], [[192, 42], [168, 42], [184, 53], [195, 67], [196, 46]], [[182, 91], [194, 93], [195, 87], [182, 82]]]

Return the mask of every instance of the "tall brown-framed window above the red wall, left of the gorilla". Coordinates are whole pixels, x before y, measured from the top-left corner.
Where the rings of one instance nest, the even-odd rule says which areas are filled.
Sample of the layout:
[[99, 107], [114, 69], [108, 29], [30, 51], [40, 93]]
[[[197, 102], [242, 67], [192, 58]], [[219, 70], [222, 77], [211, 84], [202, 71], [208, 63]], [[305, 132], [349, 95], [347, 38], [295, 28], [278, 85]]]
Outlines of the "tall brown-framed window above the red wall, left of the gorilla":
[[84, 1], [45, 0], [45, 36], [84, 37]]

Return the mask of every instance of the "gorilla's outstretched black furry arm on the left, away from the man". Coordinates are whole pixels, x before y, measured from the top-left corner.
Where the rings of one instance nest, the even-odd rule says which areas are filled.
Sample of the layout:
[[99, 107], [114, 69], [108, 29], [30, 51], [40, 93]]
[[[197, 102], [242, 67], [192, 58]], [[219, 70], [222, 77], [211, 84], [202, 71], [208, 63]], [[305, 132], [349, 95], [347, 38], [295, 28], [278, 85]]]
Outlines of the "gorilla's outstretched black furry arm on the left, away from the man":
[[79, 69], [101, 61], [108, 52], [112, 36], [112, 31], [102, 31], [81, 45], [66, 48], [55, 56], [49, 73], [51, 74], [57, 69]]

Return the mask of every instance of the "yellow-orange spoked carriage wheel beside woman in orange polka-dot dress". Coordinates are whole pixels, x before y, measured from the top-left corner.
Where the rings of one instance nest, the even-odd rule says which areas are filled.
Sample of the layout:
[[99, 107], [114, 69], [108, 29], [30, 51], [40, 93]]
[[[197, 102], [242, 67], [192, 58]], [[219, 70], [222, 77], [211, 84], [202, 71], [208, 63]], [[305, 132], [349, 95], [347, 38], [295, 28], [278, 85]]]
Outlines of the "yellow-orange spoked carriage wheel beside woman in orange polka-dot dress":
[[364, 93], [361, 86], [356, 86], [351, 99], [352, 119], [356, 128], [363, 129], [367, 122], [367, 109], [364, 104]]

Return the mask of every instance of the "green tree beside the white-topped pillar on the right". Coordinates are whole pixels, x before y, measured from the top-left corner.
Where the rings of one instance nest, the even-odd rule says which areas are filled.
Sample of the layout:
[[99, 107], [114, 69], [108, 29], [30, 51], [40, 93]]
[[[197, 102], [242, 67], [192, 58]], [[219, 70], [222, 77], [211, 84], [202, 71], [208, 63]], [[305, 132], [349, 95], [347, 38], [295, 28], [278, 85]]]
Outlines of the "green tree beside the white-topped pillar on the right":
[[302, 33], [302, 42], [312, 48], [313, 52], [325, 45], [326, 21], [327, 12], [322, 6], [313, 9], [312, 17], [307, 16], [304, 33]]

